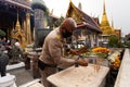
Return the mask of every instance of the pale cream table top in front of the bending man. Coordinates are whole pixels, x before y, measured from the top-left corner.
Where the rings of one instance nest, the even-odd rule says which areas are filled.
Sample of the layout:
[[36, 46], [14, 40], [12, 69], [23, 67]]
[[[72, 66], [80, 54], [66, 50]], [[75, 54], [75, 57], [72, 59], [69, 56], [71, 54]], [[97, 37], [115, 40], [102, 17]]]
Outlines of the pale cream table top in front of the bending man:
[[104, 87], [109, 69], [100, 66], [96, 71], [94, 64], [88, 66], [70, 66], [48, 77], [56, 87]]

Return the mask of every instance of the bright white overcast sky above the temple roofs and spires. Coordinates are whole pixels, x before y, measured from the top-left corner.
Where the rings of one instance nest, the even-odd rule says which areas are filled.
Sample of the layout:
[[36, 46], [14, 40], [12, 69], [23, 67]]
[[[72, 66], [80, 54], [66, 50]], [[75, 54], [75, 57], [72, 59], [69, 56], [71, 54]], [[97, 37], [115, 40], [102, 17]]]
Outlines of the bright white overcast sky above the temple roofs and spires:
[[[50, 12], [53, 9], [53, 15], [65, 16], [69, 0], [43, 0]], [[105, 2], [106, 13], [109, 24], [121, 29], [121, 35], [130, 34], [130, 0], [72, 0], [78, 7], [81, 2], [82, 11], [90, 16], [99, 17], [100, 22], [103, 14], [103, 4]]]

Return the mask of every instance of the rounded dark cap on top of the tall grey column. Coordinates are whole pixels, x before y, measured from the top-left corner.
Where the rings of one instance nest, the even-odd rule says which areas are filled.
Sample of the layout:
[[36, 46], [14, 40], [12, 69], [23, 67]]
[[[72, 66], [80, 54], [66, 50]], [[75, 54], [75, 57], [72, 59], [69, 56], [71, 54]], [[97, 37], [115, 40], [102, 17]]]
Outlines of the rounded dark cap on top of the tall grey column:
[[47, 5], [43, 2], [43, 0], [32, 0], [31, 1], [31, 8], [32, 8], [32, 10], [35, 10], [35, 9], [41, 9], [43, 11], [47, 11]]

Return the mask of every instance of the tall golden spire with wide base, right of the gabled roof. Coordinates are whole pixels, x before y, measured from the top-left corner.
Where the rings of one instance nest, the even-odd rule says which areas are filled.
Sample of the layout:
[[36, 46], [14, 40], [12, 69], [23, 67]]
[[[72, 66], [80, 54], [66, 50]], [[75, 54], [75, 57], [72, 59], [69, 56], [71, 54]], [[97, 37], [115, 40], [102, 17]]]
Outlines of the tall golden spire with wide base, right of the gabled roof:
[[101, 21], [100, 27], [103, 32], [103, 35], [114, 34], [114, 27], [112, 27], [109, 25], [108, 20], [107, 20], [107, 14], [106, 14], [106, 10], [105, 10], [105, 2], [103, 5], [103, 15], [102, 15], [102, 21]]

